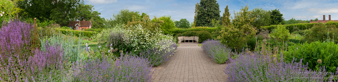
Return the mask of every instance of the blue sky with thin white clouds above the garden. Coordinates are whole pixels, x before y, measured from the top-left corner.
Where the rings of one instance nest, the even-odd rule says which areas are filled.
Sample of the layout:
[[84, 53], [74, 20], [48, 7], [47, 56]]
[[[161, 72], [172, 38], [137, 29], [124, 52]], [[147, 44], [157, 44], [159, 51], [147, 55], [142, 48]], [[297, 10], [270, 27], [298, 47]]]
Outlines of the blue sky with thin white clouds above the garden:
[[[152, 19], [154, 16], [171, 16], [175, 21], [187, 19], [194, 21], [195, 4], [200, 0], [84, 0], [85, 4], [93, 5], [95, 11], [101, 13], [101, 17], [110, 19], [113, 14], [121, 9], [147, 13]], [[285, 20], [338, 20], [338, 0], [217, 0], [220, 16], [228, 5], [233, 17], [242, 6], [249, 6], [249, 10], [263, 8], [264, 10], [279, 9]]]

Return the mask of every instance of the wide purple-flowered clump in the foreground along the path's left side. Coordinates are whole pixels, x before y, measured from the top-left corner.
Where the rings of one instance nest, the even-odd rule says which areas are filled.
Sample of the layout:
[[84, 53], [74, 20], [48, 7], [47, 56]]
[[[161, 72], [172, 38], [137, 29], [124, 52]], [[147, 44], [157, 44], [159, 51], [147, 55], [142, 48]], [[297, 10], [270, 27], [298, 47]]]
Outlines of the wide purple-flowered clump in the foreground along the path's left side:
[[119, 59], [110, 58], [81, 60], [73, 63], [69, 71], [72, 81], [129, 81], [145, 82], [151, 80], [152, 66], [143, 58], [134, 54], [121, 54]]

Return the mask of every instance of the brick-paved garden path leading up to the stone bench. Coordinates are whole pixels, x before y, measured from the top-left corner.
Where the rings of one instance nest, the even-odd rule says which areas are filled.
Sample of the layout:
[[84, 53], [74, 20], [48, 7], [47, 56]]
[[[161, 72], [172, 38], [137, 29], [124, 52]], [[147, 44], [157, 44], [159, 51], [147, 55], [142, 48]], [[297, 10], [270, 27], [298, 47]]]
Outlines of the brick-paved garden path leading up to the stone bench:
[[152, 82], [227, 82], [226, 66], [215, 63], [197, 43], [181, 43], [174, 56], [153, 67]]

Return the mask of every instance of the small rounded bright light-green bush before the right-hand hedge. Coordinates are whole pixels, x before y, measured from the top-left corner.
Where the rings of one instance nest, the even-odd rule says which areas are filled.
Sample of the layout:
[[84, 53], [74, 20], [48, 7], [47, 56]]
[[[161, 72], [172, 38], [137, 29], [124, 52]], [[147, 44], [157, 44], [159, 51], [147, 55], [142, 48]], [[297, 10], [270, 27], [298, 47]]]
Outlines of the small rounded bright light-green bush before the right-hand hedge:
[[286, 27], [283, 25], [278, 25], [276, 29], [273, 29], [273, 31], [269, 35], [272, 39], [278, 42], [285, 42], [291, 36], [289, 30], [287, 30]]

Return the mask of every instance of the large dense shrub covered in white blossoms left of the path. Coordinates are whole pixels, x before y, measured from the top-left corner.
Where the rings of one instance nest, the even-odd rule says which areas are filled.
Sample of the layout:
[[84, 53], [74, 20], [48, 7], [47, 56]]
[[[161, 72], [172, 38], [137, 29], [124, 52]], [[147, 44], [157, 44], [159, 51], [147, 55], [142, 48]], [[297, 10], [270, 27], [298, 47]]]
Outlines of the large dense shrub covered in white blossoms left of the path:
[[[162, 31], [151, 33], [148, 29], [142, 28], [141, 25], [131, 26], [128, 30], [124, 31], [124, 42], [128, 47], [133, 48], [133, 52], [141, 52], [150, 48], [157, 48], [159, 51], [167, 49], [175, 39], [171, 35], [164, 35]], [[162, 42], [162, 43], [160, 43]], [[165, 42], [165, 44], [163, 44]], [[170, 52], [172, 49], [168, 49]]]

